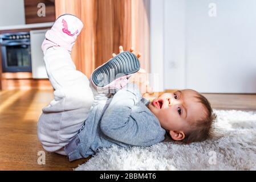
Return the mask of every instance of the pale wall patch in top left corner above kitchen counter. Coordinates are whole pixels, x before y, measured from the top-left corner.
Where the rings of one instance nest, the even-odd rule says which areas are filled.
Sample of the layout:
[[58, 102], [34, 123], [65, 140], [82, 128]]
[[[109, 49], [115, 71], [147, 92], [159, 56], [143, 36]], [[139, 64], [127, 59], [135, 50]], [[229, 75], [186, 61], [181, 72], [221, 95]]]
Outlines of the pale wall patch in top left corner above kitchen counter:
[[23, 0], [0, 0], [0, 26], [25, 24]]

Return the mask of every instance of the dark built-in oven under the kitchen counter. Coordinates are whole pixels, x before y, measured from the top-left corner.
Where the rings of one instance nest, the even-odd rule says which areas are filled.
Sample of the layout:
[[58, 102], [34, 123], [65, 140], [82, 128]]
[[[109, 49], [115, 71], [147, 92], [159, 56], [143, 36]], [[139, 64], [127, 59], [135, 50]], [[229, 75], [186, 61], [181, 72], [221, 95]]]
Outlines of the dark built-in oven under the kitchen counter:
[[2, 72], [32, 72], [30, 32], [0, 35]]

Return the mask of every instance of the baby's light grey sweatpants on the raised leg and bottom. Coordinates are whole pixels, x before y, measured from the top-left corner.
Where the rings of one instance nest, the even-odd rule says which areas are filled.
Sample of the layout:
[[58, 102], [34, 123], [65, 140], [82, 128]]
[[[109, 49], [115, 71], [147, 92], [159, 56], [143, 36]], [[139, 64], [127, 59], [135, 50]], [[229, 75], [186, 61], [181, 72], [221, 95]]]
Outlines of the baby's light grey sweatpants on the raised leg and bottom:
[[44, 62], [55, 91], [54, 100], [40, 115], [38, 138], [44, 150], [66, 155], [63, 147], [83, 126], [97, 92], [86, 75], [76, 70], [66, 49], [47, 49]]

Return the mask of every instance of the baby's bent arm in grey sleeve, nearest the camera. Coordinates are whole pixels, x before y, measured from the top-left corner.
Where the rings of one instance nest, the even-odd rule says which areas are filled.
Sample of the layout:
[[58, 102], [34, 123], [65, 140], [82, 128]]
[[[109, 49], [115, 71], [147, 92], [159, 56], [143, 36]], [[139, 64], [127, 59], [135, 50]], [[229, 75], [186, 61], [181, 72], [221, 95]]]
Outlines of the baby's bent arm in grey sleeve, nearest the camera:
[[143, 111], [131, 116], [141, 100], [135, 84], [128, 84], [112, 98], [101, 119], [100, 129], [108, 137], [133, 146], [148, 146], [162, 140], [155, 117]]

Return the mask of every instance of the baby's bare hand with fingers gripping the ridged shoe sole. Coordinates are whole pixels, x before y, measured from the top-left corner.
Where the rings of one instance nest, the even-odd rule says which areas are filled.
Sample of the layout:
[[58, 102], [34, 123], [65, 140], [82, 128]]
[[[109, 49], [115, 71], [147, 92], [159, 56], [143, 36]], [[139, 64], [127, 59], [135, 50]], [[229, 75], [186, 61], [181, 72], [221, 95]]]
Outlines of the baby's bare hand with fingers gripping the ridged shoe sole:
[[[124, 52], [123, 46], [119, 47], [119, 53]], [[134, 53], [134, 48], [130, 48], [130, 52]], [[116, 56], [115, 53], [112, 54], [113, 57]], [[141, 53], [137, 53], [137, 58], [139, 59], [141, 57]], [[145, 69], [140, 69], [137, 73], [132, 75], [129, 78], [130, 82], [134, 82], [139, 86], [141, 94], [145, 93], [152, 93], [152, 88], [149, 86], [149, 81], [147, 77], [147, 72]]]

